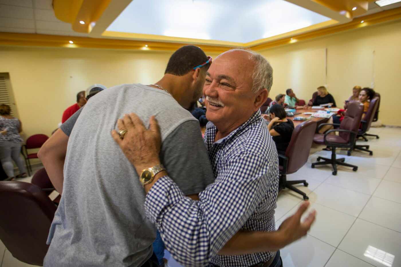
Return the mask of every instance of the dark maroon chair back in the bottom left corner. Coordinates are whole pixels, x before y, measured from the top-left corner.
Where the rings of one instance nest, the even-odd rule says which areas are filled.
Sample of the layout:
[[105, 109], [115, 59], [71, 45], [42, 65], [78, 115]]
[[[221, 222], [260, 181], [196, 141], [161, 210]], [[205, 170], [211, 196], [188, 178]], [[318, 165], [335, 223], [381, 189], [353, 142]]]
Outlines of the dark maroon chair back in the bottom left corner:
[[16, 259], [43, 265], [56, 208], [36, 185], [0, 182], [0, 239]]

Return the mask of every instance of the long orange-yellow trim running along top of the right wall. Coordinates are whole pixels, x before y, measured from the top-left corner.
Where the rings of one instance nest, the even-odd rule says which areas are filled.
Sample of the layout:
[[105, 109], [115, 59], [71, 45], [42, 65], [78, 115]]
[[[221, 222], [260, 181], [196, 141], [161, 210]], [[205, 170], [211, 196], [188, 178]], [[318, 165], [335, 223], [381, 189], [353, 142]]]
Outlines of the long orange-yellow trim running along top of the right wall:
[[[352, 29], [358, 29], [366, 26], [371, 26], [375, 25], [378, 23], [383, 23], [391, 20], [398, 20], [401, 19], [401, 7], [400, 8], [394, 8], [391, 10], [386, 10], [383, 12], [378, 12], [375, 14], [371, 14], [368, 16], [363, 16], [359, 18], [355, 18], [351, 22], [345, 23], [345, 24], [340, 24], [328, 28], [323, 28], [319, 30], [315, 30], [313, 32], [307, 32], [303, 34], [298, 34], [295, 36], [292, 36], [291, 38], [283, 38], [281, 40], [274, 40], [271, 42], [266, 42], [263, 44], [251, 46], [252, 50], [263, 50], [267, 48], [272, 48], [275, 46], [281, 46], [285, 44], [292, 44], [295, 42], [299, 41], [304, 41], [304, 40], [309, 40], [312, 38], [328, 35], [328, 34], [334, 34], [337, 32], [342, 32], [345, 30], [352, 30]], [[364, 23], [360, 23], [361, 21], [364, 21]]]

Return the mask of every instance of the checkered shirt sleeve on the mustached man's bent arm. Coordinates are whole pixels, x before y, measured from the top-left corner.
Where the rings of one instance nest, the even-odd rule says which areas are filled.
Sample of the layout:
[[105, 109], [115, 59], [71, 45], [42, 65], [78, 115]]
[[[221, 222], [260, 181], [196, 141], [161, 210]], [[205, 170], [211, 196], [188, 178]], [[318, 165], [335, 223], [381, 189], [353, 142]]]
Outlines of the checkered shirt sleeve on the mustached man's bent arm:
[[156, 224], [166, 248], [185, 266], [204, 266], [253, 214], [269, 191], [271, 162], [253, 152], [230, 157], [215, 183], [199, 195], [185, 197], [168, 177], [146, 196], [148, 218]]

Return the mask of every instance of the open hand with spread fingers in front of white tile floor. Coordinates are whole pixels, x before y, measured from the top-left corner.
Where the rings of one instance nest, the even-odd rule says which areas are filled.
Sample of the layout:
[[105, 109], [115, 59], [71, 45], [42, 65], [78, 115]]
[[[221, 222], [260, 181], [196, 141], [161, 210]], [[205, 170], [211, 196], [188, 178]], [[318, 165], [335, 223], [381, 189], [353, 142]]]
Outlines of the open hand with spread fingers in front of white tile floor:
[[309, 202], [304, 201], [298, 208], [298, 211], [296, 211], [294, 215], [285, 219], [278, 228], [278, 231], [281, 231], [286, 237], [287, 245], [305, 236], [314, 223], [316, 219], [315, 210], [309, 213], [308, 217], [301, 222], [301, 217], [308, 209], [309, 205]]

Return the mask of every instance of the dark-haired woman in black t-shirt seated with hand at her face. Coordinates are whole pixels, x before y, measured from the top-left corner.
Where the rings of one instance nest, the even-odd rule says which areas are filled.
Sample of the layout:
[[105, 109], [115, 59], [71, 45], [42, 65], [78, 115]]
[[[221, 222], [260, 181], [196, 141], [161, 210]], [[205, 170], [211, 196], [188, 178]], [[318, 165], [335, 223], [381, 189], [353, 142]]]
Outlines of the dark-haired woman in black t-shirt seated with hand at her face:
[[277, 152], [285, 154], [288, 144], [290, 144], [292, 132], [294, 131], [294, 122], [286, 118], [286, 110], [279, 104], [270, 108], [271, 120], [267, 125], [270, 135], [273, 137]]

